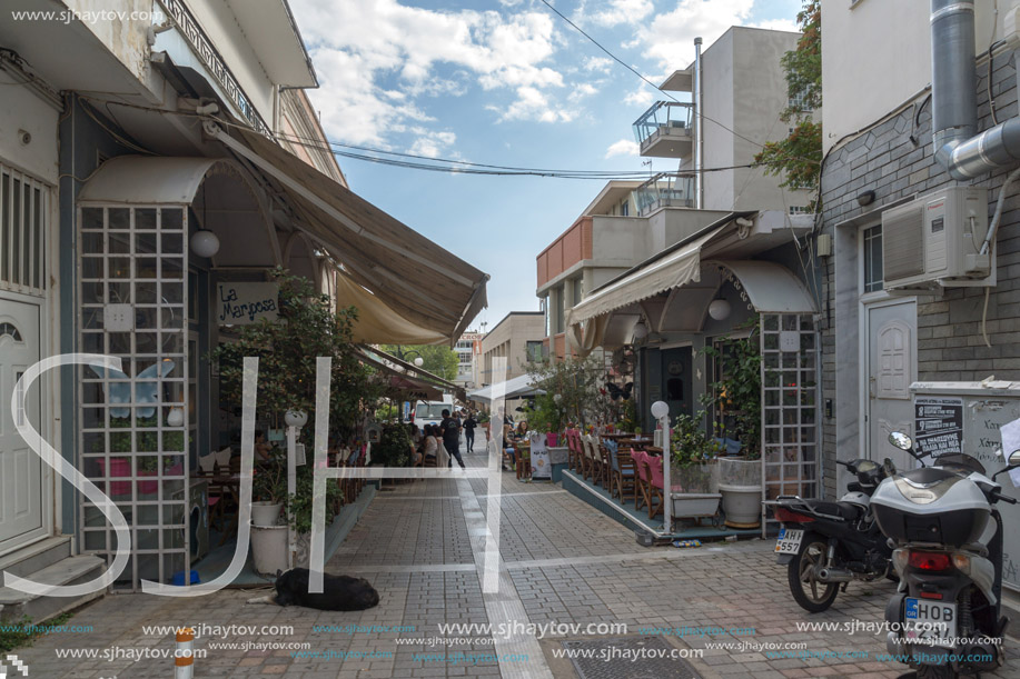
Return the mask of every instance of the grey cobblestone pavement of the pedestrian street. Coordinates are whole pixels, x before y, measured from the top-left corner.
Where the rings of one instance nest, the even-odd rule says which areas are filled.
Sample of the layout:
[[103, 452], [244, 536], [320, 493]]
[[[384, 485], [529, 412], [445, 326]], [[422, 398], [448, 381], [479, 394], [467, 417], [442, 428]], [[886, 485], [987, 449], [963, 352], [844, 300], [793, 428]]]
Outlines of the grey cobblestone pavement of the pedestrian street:
[[[472, 467], [484, 461], [482, 455], [465, 459]], [[50, 635], [17, 653], [32, 678], [170, 678], [172, 659], [139, 661], [125, 653], [174, 648], [172, 635], [146, 635], [143, 625], [190, 625], [199, 630], [196, 648], [208, 653], [196, 660], [197, 678], [575, 677], [571, 661], [555, 657], [565, 638], [627, 635], [663, 635], [681, 655], [703, 651], [687, 661], [706, 679], [898, 677], [905, 670], [877, 659], [885, 651], [882, 635], [849, 633], [843, 627], [882, 620], [893, 590], [889, 582], [851, 583], [832, 609], [809, 616], [791, 599], [770, 542], [647, 549], [556, 486], [522, 483], [504, 472], [491, 489], [485, 480], [458, 473], [454, 469], [449, 478], [384, 487], [329, 561], [330, 572], [368, 578], [382, 596], [376, 608], [320, 612], [249, 605], [248, 599], [263, 593], [252, 590], [195, 599], [118, 595], [70, 621], [90, 625], [92, 632]], [[491, 491], [499, 493], [503, 520], [499, 552], [486, 561]], [[486, 563], [498, 568], [489, 581], [498, 581], [498, 592], [483, 593]], [[811, 631], [800, 627], [804, 622], [832, 627]], [[440, 633], [445, 623], [502, 625], [511, 633]], [[524, 623], [581, 628], [552, 630], [537, 639]], [[586, 637], [590, 623], [623, 623], [626, 632], [593, 627]], [[244, 633], [227, 626], [260, 629]], [[264, 626], [294, 629], [287, 633]], [[217, 632], [225, 635], [217, 638]], [[224, 643], [236, 646], [217, 646]], [[309, 646], [244, 646], [270, 643]], [[1007, 646], [1007, 666], [983, 677], [1020, 677], [1018, 642], [1011, 639]], [[96, 649], [99, 656], [57, 657], [77, 648]], [[776, 649], [813, 657], [770, 657]], [[642, 661], [636, 661], [603, 676], [652, 675], [642, 673]]]

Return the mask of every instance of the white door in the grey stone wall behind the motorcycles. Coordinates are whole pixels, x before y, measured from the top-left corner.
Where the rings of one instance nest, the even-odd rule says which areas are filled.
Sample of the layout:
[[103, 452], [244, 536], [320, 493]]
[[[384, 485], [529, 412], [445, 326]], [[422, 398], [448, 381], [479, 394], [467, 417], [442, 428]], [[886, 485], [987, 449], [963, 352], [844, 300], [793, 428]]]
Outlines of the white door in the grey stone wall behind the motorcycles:
[[890, 458], [897, 469], [912, 469], [917, 461], [889, 442], [889, 432], [913, 436], [910, 383], [918, 379], [918, 304], [913, 298], [872, 302], [864, 313], [865, 457], [877, 462]]

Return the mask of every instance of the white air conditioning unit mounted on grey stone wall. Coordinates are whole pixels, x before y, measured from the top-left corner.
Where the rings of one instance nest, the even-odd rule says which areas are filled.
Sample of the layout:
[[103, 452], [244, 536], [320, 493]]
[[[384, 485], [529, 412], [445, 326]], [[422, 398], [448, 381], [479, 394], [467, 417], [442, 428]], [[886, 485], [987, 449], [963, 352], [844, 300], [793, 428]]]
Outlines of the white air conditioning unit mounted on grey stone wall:
[[994, 258], [979, 254], [987, 232], [987, 189], [949, 187], [887, 210], [883, 287], [897, 291], [994, 284]]

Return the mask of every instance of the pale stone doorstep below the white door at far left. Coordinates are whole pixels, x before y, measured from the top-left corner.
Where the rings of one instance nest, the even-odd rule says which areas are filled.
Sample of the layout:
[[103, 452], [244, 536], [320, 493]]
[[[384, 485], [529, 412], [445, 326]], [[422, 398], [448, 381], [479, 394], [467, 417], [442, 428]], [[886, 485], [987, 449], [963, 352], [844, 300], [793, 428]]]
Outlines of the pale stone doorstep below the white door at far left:
[[[36, 582], [47, 585], [79, 585], [96, 579], [105, 570], [106, 561], [99, 557], [68, 557], [28, 577]], [[63, 611], [98, 599], [106, 591], [103, 588], [83, 597], [40, 597], [9, 587], [0, 587], [0, 622], [16, 623], [28, 617], [32, 623], [38, 625]]]

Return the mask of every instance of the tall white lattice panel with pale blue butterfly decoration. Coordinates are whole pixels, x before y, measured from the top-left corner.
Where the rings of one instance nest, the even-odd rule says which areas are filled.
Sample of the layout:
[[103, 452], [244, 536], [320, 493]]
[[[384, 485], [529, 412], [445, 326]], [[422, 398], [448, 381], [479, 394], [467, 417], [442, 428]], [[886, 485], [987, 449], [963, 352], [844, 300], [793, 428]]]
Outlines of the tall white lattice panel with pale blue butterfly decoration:
[[[184, 207], [78, 211], [80, 350], [122, 361], [119, 373], [79, 368], [80, 471], [131, 527], [119, 589], [188, 565], [187, 220]], [[83, 496], [80, 528], [83, 551], [112, 561], [116, 535]]]

